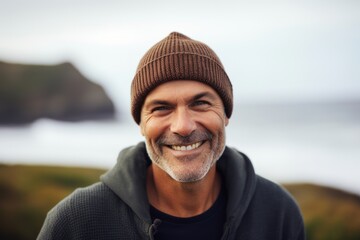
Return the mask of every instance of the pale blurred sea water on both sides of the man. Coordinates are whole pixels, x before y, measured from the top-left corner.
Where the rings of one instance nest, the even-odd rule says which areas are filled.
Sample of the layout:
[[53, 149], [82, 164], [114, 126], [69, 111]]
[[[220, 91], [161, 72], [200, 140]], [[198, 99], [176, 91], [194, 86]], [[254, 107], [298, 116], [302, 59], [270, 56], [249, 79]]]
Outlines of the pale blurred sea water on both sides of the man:
[[[111, 168], [119, 151], [143, 141], [134, 122], [39, 120], [0, 127], [0, 162]], [[360, 104], [240, 105], [227, 145], [258, 174], [360, 194]]]

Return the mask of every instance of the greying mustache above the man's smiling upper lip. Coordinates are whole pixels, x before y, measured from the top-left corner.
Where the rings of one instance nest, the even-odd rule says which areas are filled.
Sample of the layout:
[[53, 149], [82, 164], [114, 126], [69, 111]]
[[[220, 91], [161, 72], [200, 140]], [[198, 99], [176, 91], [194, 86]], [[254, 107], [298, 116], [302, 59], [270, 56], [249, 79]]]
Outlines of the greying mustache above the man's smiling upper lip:
[[175, 133], [165, 133], [157, 140], [157, 145], [190, 145], [195, 142], [211, 140], [213, 135], [209, 131], [195, 131], [188, 136], [181, 136]]

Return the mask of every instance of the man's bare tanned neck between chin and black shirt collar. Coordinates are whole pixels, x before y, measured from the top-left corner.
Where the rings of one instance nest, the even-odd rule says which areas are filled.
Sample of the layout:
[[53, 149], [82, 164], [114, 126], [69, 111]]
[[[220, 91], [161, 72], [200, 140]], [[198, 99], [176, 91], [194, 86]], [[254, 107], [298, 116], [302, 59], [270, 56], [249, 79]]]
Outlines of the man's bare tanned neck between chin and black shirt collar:
[[176, 217], [192, 217], [205, 212], [216, 201], [221, 189], [221, 177], [215, 165], [203, 179], [183, 183], [151, 164], [146, 183], [150, 204]]

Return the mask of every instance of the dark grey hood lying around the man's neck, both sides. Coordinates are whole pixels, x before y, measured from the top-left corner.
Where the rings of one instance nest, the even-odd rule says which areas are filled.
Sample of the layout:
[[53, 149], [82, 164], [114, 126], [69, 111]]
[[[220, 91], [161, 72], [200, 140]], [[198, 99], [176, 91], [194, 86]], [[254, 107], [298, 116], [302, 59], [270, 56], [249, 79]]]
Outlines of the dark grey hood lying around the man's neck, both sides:
[[[101, 181], [118, 195], [143, 221], [151, 224], [146, 192], [146, 169], [151, 160], [145, 143], [122, 150], [116, 165], [101, 176]], [[217, 161], [227, 191], [227, 227], [238, 225], [256, 188], [256, 175], [250, 160], [226, 147]]]

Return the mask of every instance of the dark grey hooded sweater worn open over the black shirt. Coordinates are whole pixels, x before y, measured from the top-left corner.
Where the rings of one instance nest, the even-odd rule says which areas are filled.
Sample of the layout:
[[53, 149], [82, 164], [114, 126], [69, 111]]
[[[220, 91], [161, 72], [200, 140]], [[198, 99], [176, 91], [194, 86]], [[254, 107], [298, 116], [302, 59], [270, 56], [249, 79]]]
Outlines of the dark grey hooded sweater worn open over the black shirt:
[[[124, 149], [101, 182], [77, 189], [47, 215], [38, 239], [153, 239], [146, 194], [151, 164], [145, 144]], [[217, 162], [227, 192], [222, 239], [300, 240], [303, 220], [293, 198], [255, 174], [250, 160], [226, 147]]]

